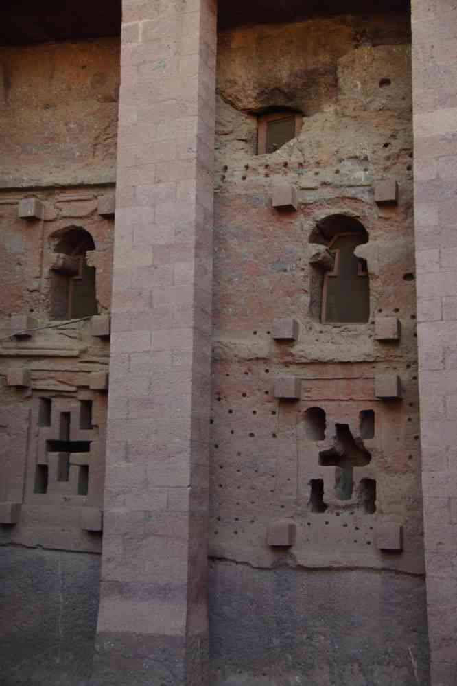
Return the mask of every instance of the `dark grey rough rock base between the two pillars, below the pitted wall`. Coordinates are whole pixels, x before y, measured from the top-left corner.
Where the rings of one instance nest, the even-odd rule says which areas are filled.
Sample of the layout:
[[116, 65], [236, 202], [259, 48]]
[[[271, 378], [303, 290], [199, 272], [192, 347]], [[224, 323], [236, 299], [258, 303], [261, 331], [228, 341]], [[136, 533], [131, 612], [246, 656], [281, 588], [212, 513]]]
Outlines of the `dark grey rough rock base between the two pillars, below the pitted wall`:
[[213, 685], [428, 683], [420, 578], [216, 561], [209, 589]]

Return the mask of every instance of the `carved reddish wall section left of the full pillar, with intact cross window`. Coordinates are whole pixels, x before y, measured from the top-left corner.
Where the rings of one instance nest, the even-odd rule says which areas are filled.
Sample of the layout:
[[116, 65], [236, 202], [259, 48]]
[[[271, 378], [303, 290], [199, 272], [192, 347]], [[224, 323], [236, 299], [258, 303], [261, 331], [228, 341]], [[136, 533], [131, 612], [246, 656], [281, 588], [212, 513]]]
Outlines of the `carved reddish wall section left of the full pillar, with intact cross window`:
[[[3, 542], [101, 550], [113, 219], [106, 187], [0, 194]], [[104, 204], [103, 204], [104, 203]], [[100, 214], [100, 210], [104, 215]], [[30, 211], [30, 216], [24, 214]], [[51, 319], [56, 245], [88, 231], [99, 315]]]

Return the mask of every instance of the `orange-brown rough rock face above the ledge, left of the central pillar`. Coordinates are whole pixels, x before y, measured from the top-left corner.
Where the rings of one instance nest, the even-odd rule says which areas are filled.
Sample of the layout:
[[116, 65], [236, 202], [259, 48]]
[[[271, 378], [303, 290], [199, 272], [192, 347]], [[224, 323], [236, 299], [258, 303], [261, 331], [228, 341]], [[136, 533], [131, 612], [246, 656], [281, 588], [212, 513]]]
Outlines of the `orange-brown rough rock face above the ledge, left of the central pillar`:
[[115, 181], [119, 45], [0, 47], [1, 187]]

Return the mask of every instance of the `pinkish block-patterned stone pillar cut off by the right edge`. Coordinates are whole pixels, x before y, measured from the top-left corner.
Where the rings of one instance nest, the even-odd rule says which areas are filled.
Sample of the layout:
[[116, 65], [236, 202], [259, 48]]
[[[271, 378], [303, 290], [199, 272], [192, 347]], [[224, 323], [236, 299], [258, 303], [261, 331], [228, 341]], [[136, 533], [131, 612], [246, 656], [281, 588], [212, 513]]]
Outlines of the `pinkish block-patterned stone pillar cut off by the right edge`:
[[414, 214], [432, 686], [457, 683], [457, 8], [412, 0]]

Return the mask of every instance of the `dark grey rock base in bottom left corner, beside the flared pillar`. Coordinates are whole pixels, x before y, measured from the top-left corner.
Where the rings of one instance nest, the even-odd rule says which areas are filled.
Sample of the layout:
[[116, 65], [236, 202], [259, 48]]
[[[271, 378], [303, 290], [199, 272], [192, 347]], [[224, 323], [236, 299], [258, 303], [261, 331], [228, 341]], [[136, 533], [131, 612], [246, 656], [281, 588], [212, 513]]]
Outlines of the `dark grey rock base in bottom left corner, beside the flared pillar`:
[[1, 549], [1, 683], [86, 686], [93, 663], [100, 557]]

